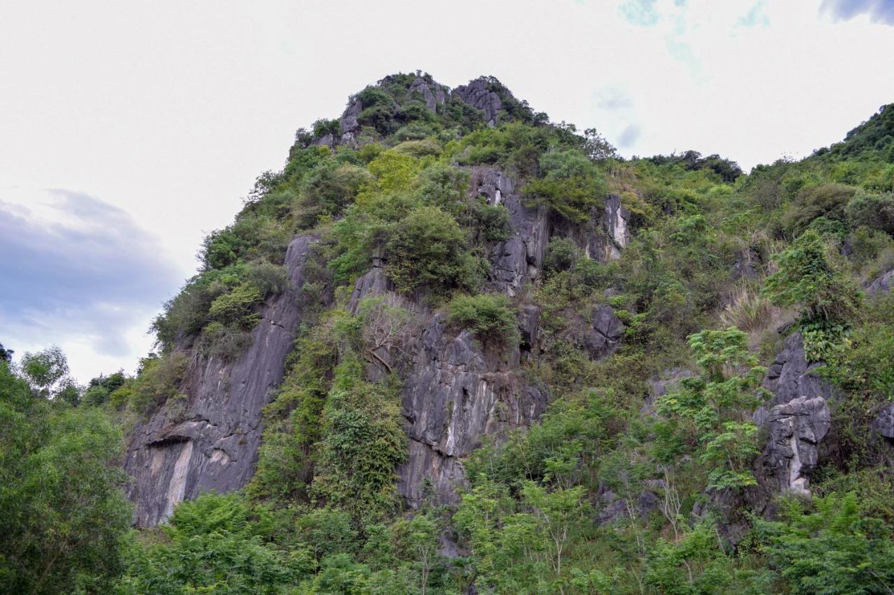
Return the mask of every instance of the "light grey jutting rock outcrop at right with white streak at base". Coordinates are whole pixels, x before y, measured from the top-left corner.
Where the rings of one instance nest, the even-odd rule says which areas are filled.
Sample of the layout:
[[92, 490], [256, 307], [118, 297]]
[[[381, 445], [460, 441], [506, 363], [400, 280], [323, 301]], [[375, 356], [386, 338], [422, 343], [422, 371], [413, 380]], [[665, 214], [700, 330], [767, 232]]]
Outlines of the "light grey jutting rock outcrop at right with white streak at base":
[[826, 399], [798, 397], [774, 406], [766, 420], [770, 440], [758, 460], [759, 476], [776, 490], [809, 495], [819, 444], [831, 427]]

